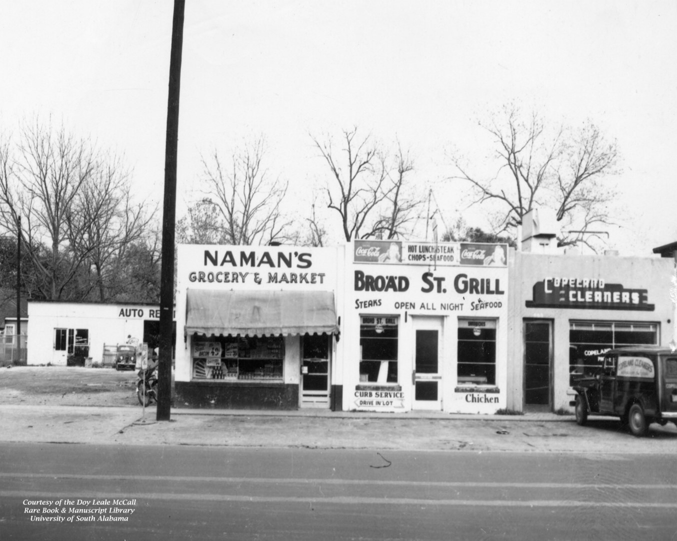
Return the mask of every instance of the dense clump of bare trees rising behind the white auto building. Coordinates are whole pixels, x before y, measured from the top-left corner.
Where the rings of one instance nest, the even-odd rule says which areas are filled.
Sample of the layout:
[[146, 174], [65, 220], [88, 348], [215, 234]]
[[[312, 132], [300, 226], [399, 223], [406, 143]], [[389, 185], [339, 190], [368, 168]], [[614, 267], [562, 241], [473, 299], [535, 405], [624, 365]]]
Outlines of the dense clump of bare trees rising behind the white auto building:
[[146, 242], [153, 214], [133, 204], [120, 158], [63, 126], [24, 122], [14, 145], [0, 144], [0, 228], [17, 235], [21, 218], [22, 283], [37, 298], [124, 293], [127, 251]]

